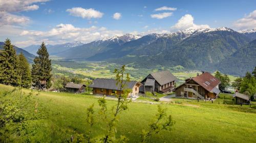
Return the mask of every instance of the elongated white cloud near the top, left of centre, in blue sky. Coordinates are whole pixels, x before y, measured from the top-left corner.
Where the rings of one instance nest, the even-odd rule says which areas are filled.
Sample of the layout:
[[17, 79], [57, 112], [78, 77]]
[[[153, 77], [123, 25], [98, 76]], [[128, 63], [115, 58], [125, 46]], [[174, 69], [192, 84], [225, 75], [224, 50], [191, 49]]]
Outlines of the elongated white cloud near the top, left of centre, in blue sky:
[[83, 8], [72, 8], [67, 9], [67, 12], [72, 16], [82, 17], [82, 18], [101, 18], [103, 13], [96, 11], [94, 9], [83, 9]]

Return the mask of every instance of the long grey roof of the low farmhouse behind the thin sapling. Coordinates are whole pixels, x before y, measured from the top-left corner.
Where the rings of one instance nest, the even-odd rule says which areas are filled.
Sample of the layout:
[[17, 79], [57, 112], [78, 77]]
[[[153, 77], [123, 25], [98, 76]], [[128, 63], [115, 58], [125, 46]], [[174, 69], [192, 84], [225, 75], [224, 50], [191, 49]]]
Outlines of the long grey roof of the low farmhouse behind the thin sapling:
[[[110, 89], [110, 90], [120, 90], [120, 84], [116, 85], [115, 79], [106, 79], [106, 78], [96, 78], [92, 84], [89, 85], [91, 88], [100, 88], [100, 89]], [[132, 89], [136, 85], [137, 81], [126, 82], [126, 89]], [[139, 83], [141, 85], [141, 83]]]

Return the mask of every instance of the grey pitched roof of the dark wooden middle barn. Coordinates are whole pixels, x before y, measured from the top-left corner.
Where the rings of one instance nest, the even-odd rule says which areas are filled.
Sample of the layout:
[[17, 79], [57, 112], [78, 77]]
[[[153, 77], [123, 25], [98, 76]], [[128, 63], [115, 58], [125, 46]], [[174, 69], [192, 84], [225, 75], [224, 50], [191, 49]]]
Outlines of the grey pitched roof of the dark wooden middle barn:
[[151, 75], [154, 77], [154, 79], [160, 85], [164, 85], [166, 83], [177, 80], [177, 78], [172, 73], [170, 73], [169, 71], [155, 72], [155, 73], [151, 73]]

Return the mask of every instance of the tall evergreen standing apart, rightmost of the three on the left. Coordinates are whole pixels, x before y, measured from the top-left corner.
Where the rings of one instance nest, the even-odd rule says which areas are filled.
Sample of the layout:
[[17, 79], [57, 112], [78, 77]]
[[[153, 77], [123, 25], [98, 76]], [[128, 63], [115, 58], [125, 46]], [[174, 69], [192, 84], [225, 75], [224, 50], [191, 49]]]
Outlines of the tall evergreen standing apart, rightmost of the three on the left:
[[52, 67], [49, 53], [44, 42], [42, 42], [37, 54], [34, 59], [34, 64], [32, 65], [33, 82], [38, 86], [41, 80], [46, 80], [46, 88], [48, 89], [51, 87]]

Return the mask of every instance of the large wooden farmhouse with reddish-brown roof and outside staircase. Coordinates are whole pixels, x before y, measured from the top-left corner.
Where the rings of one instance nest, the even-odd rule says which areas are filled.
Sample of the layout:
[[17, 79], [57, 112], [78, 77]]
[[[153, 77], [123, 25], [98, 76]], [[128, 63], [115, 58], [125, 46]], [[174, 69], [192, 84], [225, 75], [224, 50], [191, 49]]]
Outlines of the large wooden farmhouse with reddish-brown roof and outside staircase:
[[208, 72], [193, 78], [185, 79], [185, 83], [176, 88], [176, 97], [207, 99], [218, 97], [220, 80]]

